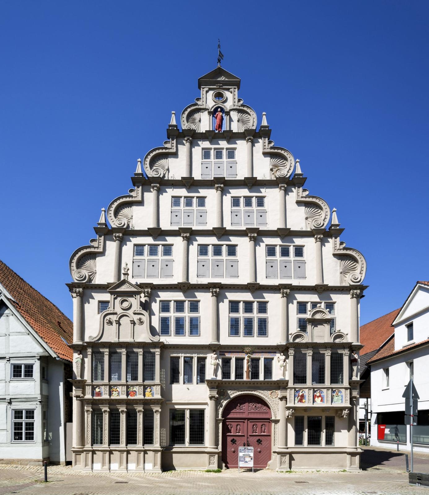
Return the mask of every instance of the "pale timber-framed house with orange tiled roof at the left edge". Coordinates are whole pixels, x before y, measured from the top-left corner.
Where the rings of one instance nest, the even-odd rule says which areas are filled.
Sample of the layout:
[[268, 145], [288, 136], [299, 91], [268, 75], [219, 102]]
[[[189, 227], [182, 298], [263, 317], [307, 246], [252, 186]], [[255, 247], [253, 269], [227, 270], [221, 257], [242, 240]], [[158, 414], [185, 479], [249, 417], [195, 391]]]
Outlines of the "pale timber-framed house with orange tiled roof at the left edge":
[[0, 261], [0, 463], [65, 463], [72, 339], [72, 322]]

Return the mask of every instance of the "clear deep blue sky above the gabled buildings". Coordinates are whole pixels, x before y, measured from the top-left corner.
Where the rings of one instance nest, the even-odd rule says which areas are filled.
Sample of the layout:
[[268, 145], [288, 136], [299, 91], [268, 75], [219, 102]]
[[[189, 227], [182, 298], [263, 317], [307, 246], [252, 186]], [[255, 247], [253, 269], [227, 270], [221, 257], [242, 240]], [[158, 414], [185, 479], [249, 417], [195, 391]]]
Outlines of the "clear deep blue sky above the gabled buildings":
[[336, 207], [361, 323], [428, 267], [428, 1], [0, 3], [0, 259], [71, 317], [68, 261], [216, 65]]

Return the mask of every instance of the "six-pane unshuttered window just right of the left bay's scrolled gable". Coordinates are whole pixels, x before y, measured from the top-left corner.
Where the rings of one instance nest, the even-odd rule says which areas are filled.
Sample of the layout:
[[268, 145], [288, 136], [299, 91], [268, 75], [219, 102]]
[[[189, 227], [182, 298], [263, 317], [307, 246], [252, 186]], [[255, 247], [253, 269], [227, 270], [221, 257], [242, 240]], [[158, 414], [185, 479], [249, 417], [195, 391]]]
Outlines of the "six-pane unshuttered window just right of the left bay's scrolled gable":
[[160, 335], [200, 336], [200, 301], [160, 301]]

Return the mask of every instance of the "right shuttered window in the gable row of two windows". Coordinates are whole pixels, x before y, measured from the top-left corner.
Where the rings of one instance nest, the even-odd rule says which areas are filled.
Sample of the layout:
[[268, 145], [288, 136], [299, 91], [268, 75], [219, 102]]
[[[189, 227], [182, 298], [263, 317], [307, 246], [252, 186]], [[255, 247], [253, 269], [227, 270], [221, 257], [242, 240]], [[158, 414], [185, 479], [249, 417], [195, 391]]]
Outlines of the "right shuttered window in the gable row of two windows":
[[267, 198], [265, 196], [232, 196], [232, 227], [266, 227]]

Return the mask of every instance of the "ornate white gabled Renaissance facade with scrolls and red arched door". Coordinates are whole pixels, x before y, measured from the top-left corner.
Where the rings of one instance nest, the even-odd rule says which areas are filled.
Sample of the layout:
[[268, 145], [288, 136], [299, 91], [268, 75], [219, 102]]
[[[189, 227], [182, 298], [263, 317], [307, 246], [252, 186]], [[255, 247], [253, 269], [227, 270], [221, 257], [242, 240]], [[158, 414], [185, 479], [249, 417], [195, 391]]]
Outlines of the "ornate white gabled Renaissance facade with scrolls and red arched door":
[[358, 469], [365, 259], [240, 79], [198, 86], [70, 260], [73, 465]]

